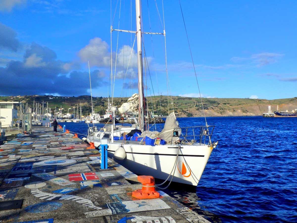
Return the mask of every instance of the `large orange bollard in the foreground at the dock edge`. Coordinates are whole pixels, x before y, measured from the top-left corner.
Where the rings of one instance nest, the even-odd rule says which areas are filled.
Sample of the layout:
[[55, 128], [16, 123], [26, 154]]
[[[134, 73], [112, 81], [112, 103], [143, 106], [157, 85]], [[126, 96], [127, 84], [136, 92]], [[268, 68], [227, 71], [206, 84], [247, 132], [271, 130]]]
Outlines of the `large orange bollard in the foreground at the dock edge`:
[[159, 192], [156, 191], [155, 178], [152, 176], [138, 176], [138, 181], [142, 183], [142, 189], [132, 192], [132, 197], [138, 199], [158, 198]]

